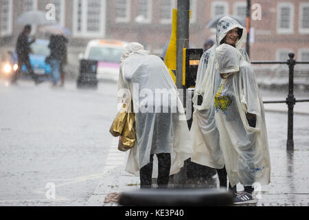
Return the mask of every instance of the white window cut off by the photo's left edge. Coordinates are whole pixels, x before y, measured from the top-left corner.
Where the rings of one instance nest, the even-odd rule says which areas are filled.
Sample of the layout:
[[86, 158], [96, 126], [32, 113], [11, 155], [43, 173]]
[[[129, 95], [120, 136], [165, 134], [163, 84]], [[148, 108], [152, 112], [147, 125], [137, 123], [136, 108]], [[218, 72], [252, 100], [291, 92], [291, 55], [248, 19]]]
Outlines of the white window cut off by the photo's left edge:
[[12, 0], [3, 0], [1, 5], [1, 36], [12, 34]]

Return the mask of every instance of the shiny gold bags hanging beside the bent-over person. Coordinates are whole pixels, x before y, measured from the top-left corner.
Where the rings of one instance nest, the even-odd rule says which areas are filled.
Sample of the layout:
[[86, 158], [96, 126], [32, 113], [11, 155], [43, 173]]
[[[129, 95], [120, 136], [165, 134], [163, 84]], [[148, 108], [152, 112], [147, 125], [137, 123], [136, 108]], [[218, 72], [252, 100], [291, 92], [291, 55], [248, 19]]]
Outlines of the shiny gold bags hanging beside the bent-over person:
[[[133, 109], [133, 104], [131, 103], [131, 109]], [[135, 144], [135, 113], [119, 111], [117, 113], [115, 120], [109, 130], [110, 133], [114, 136], [119, 137], [118, 150], [119, 151], [128, 151], [130, 148], [133, 148]]]

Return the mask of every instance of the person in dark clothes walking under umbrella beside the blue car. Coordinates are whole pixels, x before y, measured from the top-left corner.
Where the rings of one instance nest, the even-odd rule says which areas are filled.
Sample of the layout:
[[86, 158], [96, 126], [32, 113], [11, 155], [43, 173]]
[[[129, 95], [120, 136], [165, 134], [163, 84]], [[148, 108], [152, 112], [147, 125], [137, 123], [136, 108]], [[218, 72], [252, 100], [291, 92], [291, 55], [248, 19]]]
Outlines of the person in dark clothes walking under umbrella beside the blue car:
[[30, 45], [36, 41], [36, 39], [32, 39], [32, 41], [29, 41], [28, 37], [31, 32], [31, 25], [25, 25], [23, 28], [23, 32], [19, 34], [19, 37], [17, 39], [16, 43], [16, 54], [17, 54], [17, 65], [18, 68], [16, 69], [16, 72], [12, 74], [12, 84], [16, 84], [19, 74], [21, 74], [21, 67], [25, 65], [27, 67], [27, 71], [29, 72], [30, 76], [34, 80], [34, 83], [38, 84], [40, 83], [38, 81], [38, 76], [34, 74], [34, 71], [32, 69], [32, 66], [30, 64], [30, 58], [29, 54], [31, 53]]

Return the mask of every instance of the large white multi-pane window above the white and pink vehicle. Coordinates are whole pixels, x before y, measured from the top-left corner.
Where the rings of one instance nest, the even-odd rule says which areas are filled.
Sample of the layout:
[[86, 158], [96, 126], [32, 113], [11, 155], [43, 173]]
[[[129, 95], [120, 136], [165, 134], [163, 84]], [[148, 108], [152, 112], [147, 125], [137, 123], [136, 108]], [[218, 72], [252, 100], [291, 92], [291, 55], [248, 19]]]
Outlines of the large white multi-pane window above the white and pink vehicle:
[[103, 37], [105, 35], [105, 1], [75, 0], [73, 35]]

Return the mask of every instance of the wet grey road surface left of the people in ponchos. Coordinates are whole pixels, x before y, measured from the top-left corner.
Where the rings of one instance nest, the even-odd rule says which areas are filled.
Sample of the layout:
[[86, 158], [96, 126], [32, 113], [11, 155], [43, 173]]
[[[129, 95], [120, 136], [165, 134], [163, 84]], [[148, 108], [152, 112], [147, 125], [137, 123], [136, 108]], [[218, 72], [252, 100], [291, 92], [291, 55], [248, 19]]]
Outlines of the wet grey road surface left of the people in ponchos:
[[[102, 176], [115, 83], [78, 90], [0, 80], [0, 206], [82, 206]], [[56, 199], [47, 199], [48, 183]]]

